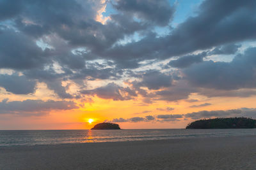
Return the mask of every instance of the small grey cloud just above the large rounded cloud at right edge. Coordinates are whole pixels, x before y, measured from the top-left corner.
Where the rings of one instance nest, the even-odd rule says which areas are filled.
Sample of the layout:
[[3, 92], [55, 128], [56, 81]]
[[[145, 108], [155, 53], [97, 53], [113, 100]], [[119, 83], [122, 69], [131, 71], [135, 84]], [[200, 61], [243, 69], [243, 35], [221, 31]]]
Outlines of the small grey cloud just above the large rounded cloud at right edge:
[[241, 45], [236, 44], [227, 44], [223, 46], [218, 46], [214, 48], [211, 52], [209, 52], [210, 55], [218, 55], [218, 54], [234, 54], [237, 52], [238, 48], [240, 48]]

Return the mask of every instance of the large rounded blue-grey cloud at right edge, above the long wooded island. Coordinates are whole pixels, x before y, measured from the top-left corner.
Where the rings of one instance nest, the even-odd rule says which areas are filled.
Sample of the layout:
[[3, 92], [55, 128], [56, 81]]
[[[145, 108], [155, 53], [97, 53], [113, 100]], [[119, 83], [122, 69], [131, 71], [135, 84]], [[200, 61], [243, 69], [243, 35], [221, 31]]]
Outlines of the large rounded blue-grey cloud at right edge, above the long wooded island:
[[256, 87], [256, 48], [236, 55], [232, 62], [204, 61], [184, 69], [186, 80], [196, 87], [236, 90]]

